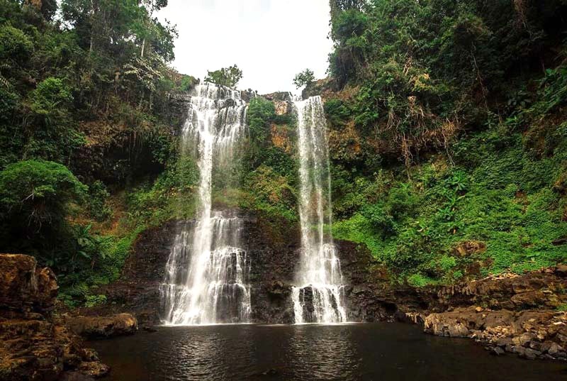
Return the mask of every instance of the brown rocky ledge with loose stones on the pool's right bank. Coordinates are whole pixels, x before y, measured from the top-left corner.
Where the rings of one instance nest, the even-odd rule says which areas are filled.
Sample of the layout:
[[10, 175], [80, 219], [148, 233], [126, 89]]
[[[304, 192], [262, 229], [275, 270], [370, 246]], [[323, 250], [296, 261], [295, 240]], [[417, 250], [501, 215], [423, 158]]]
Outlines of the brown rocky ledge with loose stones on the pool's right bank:
[[567, 360], [567, 266], [418, 292], [406, 316], [426, 333], [473, 338], [495, 355]]

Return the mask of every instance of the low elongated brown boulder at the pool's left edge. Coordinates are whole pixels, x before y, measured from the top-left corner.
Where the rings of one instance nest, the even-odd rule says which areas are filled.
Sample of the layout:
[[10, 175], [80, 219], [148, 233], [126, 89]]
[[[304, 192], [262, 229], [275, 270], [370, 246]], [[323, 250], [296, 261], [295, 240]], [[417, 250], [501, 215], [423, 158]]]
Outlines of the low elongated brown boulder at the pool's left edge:
[[137, 320], [131, 314], [72, 316], [65, 324], [73, 333], [91, 339], [132, 335], [137, 331]]

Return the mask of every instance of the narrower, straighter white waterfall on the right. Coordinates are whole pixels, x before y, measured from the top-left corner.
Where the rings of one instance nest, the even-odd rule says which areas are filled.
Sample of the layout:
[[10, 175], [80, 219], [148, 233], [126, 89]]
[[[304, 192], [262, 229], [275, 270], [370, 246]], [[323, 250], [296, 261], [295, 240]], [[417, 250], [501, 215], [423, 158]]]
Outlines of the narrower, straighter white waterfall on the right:
[[301, 260], [292, 289], [296, 324], [347, 321], [344, 285], [330, 229], [327, 122], [320, 96], [294, 101], [298, 114]]

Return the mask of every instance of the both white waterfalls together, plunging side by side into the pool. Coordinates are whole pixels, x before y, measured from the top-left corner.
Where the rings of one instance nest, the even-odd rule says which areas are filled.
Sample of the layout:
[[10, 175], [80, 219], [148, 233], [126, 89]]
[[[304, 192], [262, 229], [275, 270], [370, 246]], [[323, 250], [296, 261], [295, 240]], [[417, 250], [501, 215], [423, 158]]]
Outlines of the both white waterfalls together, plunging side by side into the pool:
[[[292, 288], [296, 324], [347, 321], [342, 274], [331, 226], [327, 126], [320, 96], [294, 102], [298, 115], [301, 260]], [[196, 221], [179, 224], [160, 287], [166, 325], [249, 323], [251, 261], [242, 248], [244, 221], [213, 210], [213, 188], [230, 183], [247, 134], [240, 92], [199, 84], [191, 94], [181, 155], [197, 160]], [[216, 176], [216, 177], [215, 177]]]

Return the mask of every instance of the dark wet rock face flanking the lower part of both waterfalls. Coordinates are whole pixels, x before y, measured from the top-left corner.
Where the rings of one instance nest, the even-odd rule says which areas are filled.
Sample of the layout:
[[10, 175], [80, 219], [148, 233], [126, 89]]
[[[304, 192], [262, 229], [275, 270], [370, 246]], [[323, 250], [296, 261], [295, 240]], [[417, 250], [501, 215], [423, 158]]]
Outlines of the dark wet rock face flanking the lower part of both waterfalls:
[[[252, 321], [291, 324], [294, 321], [291, 287], [299, 263], [301, 236], [298, 226], [257, 216], [244, 216], [242, 247], [246, 248], [252, 268], [250, 292]], [[108, 303], [78, 311], [81, 315], [109, 315], [128, 311], [140, 326], [159, 324], [159, 285], [164, 280], [165, 265], [172, 250], [179, 223], [169, 221], [159, 228], [141, 233], [133, 253], [126, 260], [120, 280], [101, 287]], [[371, 255], [354, 243], [336, 242], [345, 283], [345, 302], [349, 320], [376, 321], [392, 319], [395, 304], [383, 298], [383, 290], [369, 282]], [[390, 295], [390, 299], [394, 296]]]

